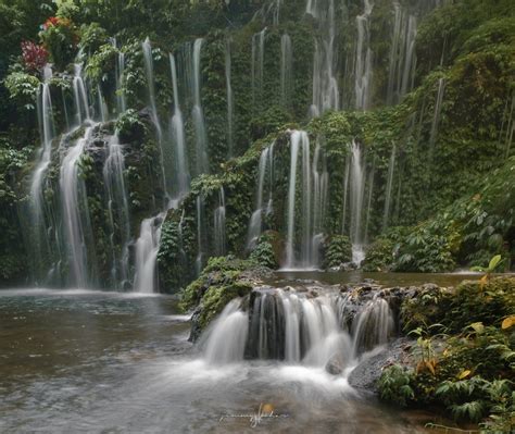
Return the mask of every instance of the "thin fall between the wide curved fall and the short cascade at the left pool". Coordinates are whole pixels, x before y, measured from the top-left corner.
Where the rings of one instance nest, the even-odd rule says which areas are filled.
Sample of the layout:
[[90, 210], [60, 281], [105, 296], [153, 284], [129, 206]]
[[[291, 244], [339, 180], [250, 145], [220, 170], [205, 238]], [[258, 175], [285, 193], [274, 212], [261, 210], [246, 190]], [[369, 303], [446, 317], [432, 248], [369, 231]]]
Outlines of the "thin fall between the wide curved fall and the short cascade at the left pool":
[[[124, 287], [128, 282], [130, 241], [130, 215], [128, 206], [128, 194], [125, 183], [125, 159], [123, 146], [120, 144], [117, 134], [112, 136], [108, 142], [108, 158], [103, 166], [103, 178], [108, 194], [108, 215], [111, 234], [111, 280], [115, 286]], [[121, 250], [116, 245], [121, 246]]]

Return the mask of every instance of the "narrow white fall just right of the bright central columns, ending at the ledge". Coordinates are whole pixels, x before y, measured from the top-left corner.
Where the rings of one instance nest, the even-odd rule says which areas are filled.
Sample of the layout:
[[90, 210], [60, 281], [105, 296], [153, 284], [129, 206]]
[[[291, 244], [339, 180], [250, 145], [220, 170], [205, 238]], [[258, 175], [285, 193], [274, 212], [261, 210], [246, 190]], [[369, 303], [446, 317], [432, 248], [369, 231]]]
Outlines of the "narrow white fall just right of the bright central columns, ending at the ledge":
[[364, 197], [365, 171], [363, 169], [361, 147], [353, 140], [351, 145], [351, 164], [350, 164], [350, 206], [351, 206], [351, 241], [352, 241], [352, 261], [360, 265], [364, 258], [363, 253], [363, 234], [362, 234], [362, 213]]

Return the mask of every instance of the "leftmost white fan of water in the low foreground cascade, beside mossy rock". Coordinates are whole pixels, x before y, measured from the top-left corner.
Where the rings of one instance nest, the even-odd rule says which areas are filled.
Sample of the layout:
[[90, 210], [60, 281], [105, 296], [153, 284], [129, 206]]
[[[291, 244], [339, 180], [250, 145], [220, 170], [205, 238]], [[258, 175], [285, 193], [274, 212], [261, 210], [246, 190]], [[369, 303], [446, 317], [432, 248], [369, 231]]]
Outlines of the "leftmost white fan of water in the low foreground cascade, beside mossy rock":
[[231, 300], [202, 336], [204, 357], [210, 364], [235, 363], [243, 360], [249, 320], [239, 310], [241, 300]]

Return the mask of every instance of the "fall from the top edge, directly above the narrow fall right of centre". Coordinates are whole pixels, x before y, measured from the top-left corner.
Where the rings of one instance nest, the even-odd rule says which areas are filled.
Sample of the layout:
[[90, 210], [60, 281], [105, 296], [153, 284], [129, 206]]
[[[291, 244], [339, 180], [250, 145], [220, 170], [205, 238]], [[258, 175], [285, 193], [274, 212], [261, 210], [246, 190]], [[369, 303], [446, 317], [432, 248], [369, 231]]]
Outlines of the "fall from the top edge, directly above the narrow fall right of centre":
[[367, 110], [370, 107], [373, 52], [370, 49], [369, 17], [374, 3], [363, 0], [363, 14], [356, 16], [357, 42], [354, 71], [355, 108]]

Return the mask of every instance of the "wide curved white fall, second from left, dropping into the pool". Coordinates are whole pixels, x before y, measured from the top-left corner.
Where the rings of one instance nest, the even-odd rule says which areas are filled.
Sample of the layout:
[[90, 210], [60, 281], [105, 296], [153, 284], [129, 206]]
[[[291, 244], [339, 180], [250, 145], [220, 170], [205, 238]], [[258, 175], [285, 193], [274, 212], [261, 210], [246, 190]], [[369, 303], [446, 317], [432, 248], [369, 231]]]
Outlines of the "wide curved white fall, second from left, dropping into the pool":
[[60, 174], [61, 203], [63, 207], [63, 226], [70, 284], [87, 287], [89, 284], [88, 239], [92, 239], [89, 220], [86, 186], [80, 176], [79, 161], [86, 145], [92, 136], [95, 126], [86, 128], [83, 138], [67, 149], [63, 158]]

